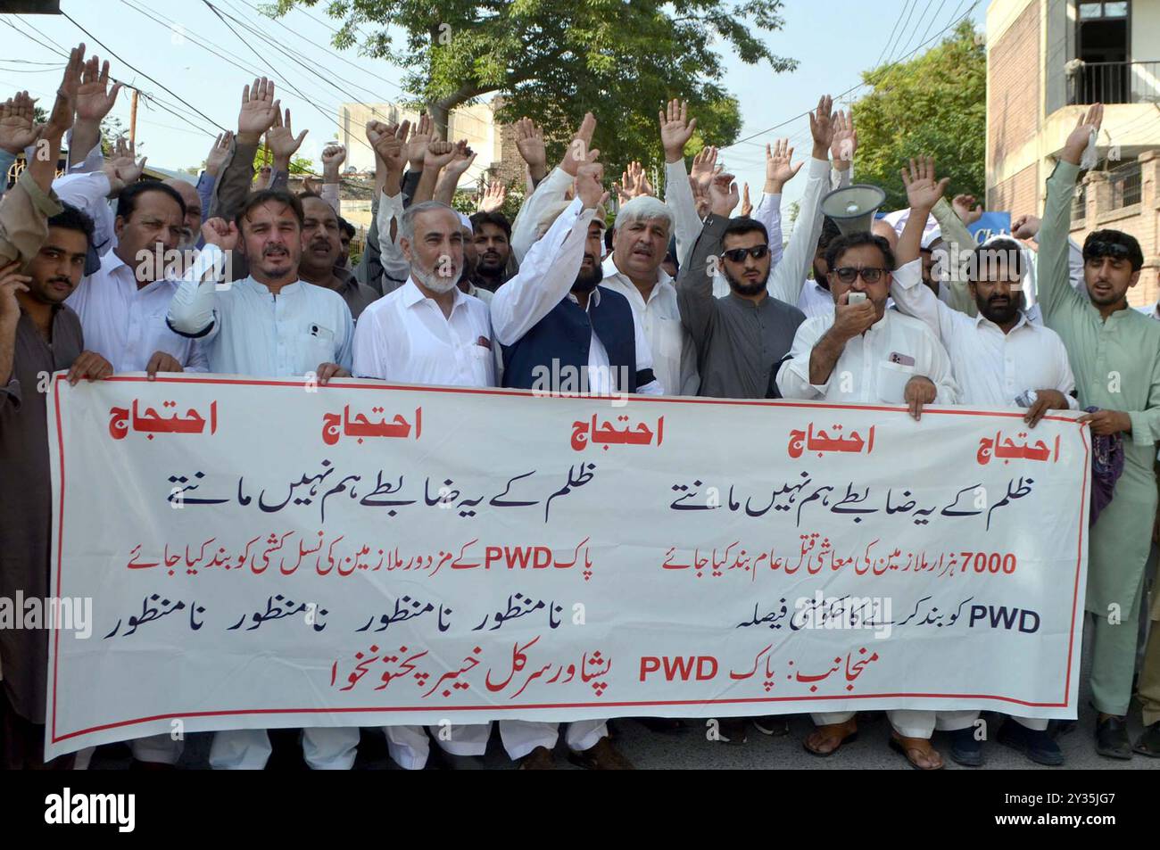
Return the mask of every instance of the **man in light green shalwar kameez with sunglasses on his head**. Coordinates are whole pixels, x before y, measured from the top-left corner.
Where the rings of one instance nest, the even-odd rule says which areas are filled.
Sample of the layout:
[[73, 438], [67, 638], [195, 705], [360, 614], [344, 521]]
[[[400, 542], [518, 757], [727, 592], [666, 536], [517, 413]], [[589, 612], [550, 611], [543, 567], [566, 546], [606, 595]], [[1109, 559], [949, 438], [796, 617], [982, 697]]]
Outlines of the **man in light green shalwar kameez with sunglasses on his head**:
[[1067, 347], [1093, 434], [1119, 435], [1124, 472], [1100, 513], [1088, 544], [1087, 612], [1092, 616], [1092, 703], [1096, 751], [1131, 758], [1125, 714], [1132, 697], [1145, 565], [1155, 515], [1155, 443], [1160, 439], [1160, 324], [1129, 308], [1144, 255], [1119, 231], [1095, 231], [1083, 242], [1086, 292], [1067, 283], [1067, 233], [1080, 158], [1096, 138], [1103, 106], [1080, 117], [1047, 179], [1039, 230], [1039, 306]]

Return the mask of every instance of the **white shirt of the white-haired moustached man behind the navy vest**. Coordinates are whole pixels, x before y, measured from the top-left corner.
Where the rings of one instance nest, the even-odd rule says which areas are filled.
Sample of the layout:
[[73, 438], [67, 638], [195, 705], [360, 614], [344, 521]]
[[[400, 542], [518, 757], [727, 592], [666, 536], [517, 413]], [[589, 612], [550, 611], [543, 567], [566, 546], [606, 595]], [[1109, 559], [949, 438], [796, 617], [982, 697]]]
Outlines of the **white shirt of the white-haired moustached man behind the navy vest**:
[[614, 254], [604, 260], [604, 279], [601, 286], [619, 292], [629, 299], [632, 312], [644, 328], [645, 339], [652, 351], [653, 375], [670, 395], [696, 395], [701, 387], [697, 375], [697, 348], [693, 337], [681, 324], [681, 310], [676, 304], [676, 286], [665, 269], [657, 269], [657, 285], [645, 302], [640, 290], [628, 275], [616, 268]]

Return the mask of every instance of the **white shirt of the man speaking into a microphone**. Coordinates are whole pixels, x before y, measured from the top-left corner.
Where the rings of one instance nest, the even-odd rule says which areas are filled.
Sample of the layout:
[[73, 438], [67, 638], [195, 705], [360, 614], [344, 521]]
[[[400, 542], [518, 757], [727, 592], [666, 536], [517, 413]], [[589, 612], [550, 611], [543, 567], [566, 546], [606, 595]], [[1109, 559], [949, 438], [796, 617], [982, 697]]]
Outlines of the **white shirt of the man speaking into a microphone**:
[[[777, 372], [777, 387], [784, 398], [900, 405], [906, 383], [922, 376], [937, 390], [934, 404], [958, 404], [950, 358], [938, 337], [923, 322], [894, 310], [848, 340], [829, 377], [812, 384], [810, 355], [833, 324], [833, 315], [821, 315], [798, 327], [789, 359]], [[911, 359], [913, 365], [898, 359]]]

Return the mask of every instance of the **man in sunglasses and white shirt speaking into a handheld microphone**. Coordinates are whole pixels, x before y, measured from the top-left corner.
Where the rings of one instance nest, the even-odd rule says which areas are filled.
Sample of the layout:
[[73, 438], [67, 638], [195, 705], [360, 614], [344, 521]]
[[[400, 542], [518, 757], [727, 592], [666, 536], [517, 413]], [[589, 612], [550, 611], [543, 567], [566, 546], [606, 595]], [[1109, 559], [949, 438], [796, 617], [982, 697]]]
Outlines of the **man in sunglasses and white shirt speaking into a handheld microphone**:
[[[905, 404], [914, 419], [922, 415], [923, 405], [957, 404], [950, 357], [938, 339], [918, 319], [886, 310], [894, 269], [890, 242], [872, 233], [840, 237], [826, 250], [826, 266], [834, 313], [807, 319], [798, 328], [789, 357], [776, 372], [782, 395]], [[933, 711], [892, 710], [886, 715], [893, 727], [891, 746], [911, 764], [920, 770], [943, 767], [930, 746]], [[833, 755], [857, 734], [855, 712], [812, 717], [818, 728], [805, 748], [815, 756]]]

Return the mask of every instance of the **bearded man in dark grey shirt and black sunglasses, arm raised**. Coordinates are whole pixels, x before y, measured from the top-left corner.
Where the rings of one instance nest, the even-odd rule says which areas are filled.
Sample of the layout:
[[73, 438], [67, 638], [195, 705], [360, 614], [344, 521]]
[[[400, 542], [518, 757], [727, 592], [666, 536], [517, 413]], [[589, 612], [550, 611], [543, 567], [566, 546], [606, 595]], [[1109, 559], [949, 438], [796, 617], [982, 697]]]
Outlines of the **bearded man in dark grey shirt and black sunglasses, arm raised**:
[[[709, 199], [711, 211], [676, 281], [681, 321], [698, 351], [698, 394], [761, 399], [805, 314], [766, 289], [769, 238], [760, 221], [728, 217], [738, 203], [732, 174], [713, 179]], [[724, 298], [713, 298], [717, 270], [728, 281]]]

